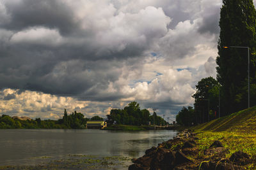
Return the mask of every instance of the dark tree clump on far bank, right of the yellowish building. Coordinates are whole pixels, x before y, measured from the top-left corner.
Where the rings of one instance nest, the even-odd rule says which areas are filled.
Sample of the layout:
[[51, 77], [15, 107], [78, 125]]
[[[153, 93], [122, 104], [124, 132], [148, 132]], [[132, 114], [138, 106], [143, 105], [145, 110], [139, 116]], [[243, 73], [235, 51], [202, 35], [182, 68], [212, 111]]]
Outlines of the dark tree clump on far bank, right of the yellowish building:
[[167, 122], [157, 116], [156, 112], [150, 115], [147, 109], [140, 109], [140, 104], [135, 101], [125, 106], [124, 109], [113, 109], [107, 115], [108, 120], [116, 121], [116, 124], [124, 125], [166, 125]]

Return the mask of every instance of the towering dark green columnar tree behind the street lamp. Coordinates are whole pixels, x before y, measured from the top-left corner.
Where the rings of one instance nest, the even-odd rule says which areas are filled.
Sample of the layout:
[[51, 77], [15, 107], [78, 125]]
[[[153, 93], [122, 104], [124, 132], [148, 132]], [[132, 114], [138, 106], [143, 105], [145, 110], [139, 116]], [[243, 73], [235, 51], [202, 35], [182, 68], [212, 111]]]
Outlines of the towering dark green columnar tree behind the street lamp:
[[[220, 39], [216, 63], [217, 80], [222, 85], [221, 113], [230, 114], [247, 107], [248, 51], [255, 52], [256, 11], [252, 0], [223, 0], [220, 13]], [[250, 55], [250, 75], [255, 77], [255, 56]]]

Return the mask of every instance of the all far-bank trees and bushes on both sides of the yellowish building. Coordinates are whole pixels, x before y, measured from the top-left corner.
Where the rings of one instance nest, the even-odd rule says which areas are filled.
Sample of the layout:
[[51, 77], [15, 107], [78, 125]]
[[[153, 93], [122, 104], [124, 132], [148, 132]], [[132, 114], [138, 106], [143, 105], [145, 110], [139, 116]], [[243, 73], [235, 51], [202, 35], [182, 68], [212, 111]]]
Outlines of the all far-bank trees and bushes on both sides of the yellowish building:
[[[124, 109], [113, 109], [107, 115], [108, 120], [116, 122], [116, 125], [108, 127], [106, 130], [143, 131], [148, 129], [148, 124], [166, 125], [167, 122], [157, 116], [156, 112], [150, 115], [147, 109], [140, 109], [140, 104], [135, 101], [125, 106]], [[59, 120], [35, 120], [24, 117], [10, 117], [2, 115], [0, 117], [0, 129], [85, 129], [88, 120], [103, 120], [102, 117], [95, 116], [85, 118], [82, 113], [74, 111], [67, 114], [64, 110], [63, 118]]]

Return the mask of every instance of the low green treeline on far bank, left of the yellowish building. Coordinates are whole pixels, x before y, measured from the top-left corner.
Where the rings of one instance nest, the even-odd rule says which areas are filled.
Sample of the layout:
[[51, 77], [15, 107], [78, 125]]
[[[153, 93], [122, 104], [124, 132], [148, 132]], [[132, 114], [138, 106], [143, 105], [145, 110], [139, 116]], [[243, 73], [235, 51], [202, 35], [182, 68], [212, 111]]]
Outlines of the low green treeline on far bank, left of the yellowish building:
[[20, 120], [2, 115], [0, 117], [0, 129], [84, 129], [88, 120], [103, 120], [103, 118], [99, 116], [84, 118], [82, 113], [76, 111], [68, 115], [66, 110], [63, 118], [59, 120], [41, 120], [41, 118]]

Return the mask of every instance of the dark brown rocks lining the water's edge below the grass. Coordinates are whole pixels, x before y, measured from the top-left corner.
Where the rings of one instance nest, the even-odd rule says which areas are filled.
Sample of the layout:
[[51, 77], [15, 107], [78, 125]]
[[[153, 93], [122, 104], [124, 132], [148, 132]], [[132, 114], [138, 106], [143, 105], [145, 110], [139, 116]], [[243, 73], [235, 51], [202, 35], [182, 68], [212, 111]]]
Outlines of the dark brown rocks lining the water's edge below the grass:
[[[159, 143], [146, 150], [145, 155], [133, 159], [129, 170], [157, 169], [246, 169], [255, 160], [247, 153], [232, 153], [220, 141], [207, 148], [200, 147], [199, 139], [192, 131], [185, 130], [176, 138]], [[229, 155], [229, 157], [228, 157]]]

